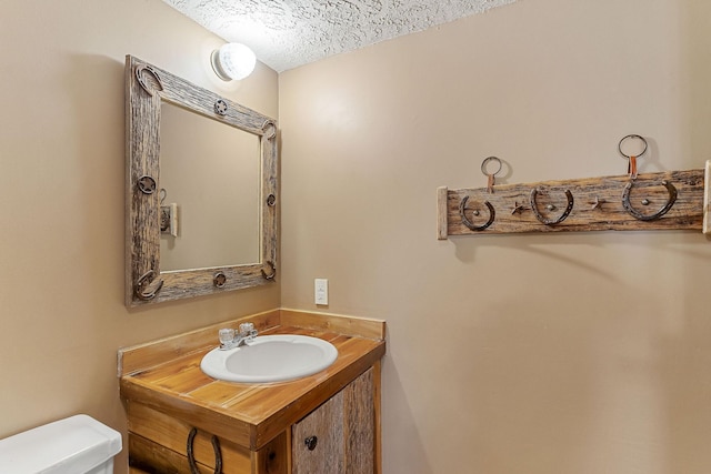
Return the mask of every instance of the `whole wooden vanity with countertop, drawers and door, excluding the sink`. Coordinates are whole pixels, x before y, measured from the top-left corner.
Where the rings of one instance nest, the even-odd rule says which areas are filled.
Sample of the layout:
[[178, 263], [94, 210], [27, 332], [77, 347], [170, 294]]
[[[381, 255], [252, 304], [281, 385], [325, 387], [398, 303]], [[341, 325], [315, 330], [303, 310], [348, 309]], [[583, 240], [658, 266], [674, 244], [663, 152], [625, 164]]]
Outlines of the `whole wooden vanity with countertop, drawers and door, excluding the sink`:
[[[338, 349], [322, 372], [242, 384], [200, 370], [220, 327], [303, 334]], [[380, 473], [385, 323], [273, 310], [119, 351], [131, 473]]]

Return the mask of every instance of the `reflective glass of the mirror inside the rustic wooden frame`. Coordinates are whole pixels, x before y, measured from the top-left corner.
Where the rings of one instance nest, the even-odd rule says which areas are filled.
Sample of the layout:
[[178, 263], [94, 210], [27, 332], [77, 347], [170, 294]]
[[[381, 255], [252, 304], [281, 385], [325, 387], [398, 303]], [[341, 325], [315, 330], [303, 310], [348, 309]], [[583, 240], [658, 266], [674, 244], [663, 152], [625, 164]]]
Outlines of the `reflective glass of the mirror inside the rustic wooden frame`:
[[257, 135], [162, 103], [161, 272], [258, 263], [259, 182]]

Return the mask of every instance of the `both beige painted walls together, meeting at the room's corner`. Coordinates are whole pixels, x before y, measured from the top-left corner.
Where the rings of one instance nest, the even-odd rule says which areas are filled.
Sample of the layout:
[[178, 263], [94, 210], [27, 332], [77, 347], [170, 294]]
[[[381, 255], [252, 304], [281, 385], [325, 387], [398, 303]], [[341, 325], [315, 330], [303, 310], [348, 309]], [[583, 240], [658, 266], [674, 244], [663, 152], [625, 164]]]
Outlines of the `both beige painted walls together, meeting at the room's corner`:
[[220, 41], [158, 0], [4, 1], [0, 436], [78, 412], [124, 431], [120, 346], [280, 304], [124, 309], [131, 53], [279, 115], [281, 304], [328, 278], [328, 311], [388, 320], [385, 473], [711, 471], [709, 239], [434, 238], [435, 188], [482, 186], [490, 154], [509, 183], [623, 173], [628, 133], [642, 171], [711, 159], [710, 10], [521, 0], [286, 72], [277, 98], [264, 67], [221, 89]]

